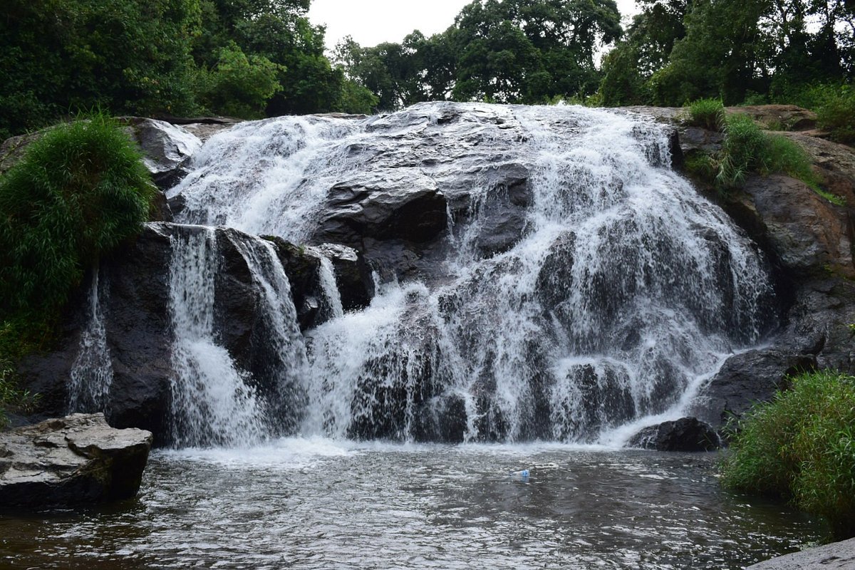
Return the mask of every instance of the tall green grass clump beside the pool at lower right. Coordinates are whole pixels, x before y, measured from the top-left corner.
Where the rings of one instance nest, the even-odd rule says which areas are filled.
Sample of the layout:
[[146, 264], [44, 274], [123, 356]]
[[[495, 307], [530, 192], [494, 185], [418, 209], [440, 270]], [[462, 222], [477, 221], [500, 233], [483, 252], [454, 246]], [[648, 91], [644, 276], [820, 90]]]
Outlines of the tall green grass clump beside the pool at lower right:
[[822, 516], [835, 539], [855, 536], [855, 377], [801, 374], [734, 431], [722, 485], [781, 497]]

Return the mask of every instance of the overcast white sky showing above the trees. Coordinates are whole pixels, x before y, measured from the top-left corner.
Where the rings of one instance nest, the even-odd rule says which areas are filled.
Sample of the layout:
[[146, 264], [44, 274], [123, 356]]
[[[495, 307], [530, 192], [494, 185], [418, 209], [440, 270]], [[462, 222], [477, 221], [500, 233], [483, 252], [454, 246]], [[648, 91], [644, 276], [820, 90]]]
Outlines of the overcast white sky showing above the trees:
[[[351, 35], [363, 47], [400, 42], [413, 30], [426, 36], [444, 32], [472, 0], [312, 0], [309, 21], [327, 26], [327, 49]], [[635, 0], [617, 0], [624, 18]]]

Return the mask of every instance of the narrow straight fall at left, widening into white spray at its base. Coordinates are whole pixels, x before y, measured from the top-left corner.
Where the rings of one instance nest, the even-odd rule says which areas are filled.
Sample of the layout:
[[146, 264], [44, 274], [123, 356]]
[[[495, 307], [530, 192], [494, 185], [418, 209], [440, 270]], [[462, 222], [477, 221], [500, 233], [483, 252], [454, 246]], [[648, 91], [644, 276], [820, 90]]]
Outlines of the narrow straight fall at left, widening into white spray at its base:
[[268, 432], [263, 403], [214, 335], [215, 232], [199, 228], [170, 240], [173, 442], [177, 447], [257, 443]]

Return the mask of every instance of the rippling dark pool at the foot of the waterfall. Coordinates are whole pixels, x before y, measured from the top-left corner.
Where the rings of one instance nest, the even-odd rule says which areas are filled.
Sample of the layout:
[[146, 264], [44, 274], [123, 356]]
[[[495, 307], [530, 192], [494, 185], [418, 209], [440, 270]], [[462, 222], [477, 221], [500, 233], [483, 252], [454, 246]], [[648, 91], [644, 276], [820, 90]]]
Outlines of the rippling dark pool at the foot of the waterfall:
[[0, 517], [0, 567], [717, 570], [818, 538], [799, 514], [722, 493], [715, 461], [322, 439], [158, 451], [133, 501]]

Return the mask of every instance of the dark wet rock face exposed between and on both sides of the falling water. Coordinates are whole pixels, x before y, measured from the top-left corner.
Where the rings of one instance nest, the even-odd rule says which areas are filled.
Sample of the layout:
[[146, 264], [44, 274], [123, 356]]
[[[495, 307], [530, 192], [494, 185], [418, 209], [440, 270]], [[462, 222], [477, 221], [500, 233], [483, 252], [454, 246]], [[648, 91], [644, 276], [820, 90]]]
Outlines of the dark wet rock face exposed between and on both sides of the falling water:
[[[631, 112], [653, 114], [674, 125], [670, 154], [678, 166], [681, 146], [683, 150], [715, 149], [721, 143], [716, 133], [681, 126], [675, 109], [634, 109]], [[760, 113], [759, 110], [752, 112]], [[430, 115], [429, 120], [426, 113]], [[800, 115], [787, 117], [791, 122], [801, 120]], [[375, 292], [372, 272], [382, 281], [421, 279], [428, 285], [441, 285], [448, 279], [442, 264], [449, 250], [454, 248], [469, 252], [475, 259], [496, 260], [492, 267], [481, 272], [484, 275], [473, 276], [470, 291], [439, 297], [439, 314], [448, 308], [465, 309], [467, 303], [475, 303], [480, 298], [477, 296], [486, 291], [479, 285], [481, 280], [504, 279], [500, 275], [505, 271], [511, 276], [520, 274], [520, 261], [504, 260], [501, 254], [521, 243], [532, 228], [531, 208], [535, 199], [532, 177], [536, 163], [515, 150], [512, 144], [529, 136], [528, 127], [512, 114], [492, 109], [464, 114], [460, 108], [447, 105], [414, 109], [368, 122], [365, 129], [372, 138], [366, 136], [351, 144], [339, 158], [344, 164], [349, 161], [370, 164], [371, 174], [346, 172], [323, 189], [321, 208], [304, 216], [313, 220], [309, 231], [295, 230], [294, 233], [303, 236], [308, 246], [278, 237], [269, 238], [290, 281], [299, 326], [315, 344], [320, 341], [313, 338], [312, 331], [330, 319], [336, 310], [359, 310], [369, 304]], [[427, 126], [422, 128], [423, 123]], [[150, 170], [164, 187], [186, 176], [188, 161], [199, 149], [198, 139], [192, 134], [195, 126], [187, 126], [184, 130], [149, 120], [128, 120], [128, 124], [144, 143]], [[809, 126], [809, 123], [804, 125]], [[246, 130], [245, 136], [251, 137], [275, 126], [262, 122], [240, 128]], [[579, 128], [573, 124], [551, 127]], [[326, 124], [322, 118], [307, 118], [301, 128], [321, 129], [326, 128]], [[345, 131], [349, 132], [346, 128]], [[638, 136], [645, 135], [639, 133]], [[855, 371], [855, 332], [852, 331], [855, 324], [855, 266], [852, 262], [855, 157], [848, 147], [805, 133], [790, 136], [805, 144], [815, 157], [829, 190], [846, 197], [847, 205], [840, 207], [828, 203], [799, 181], [781, 176], [750, 179], [745, 191], [720, 201], [722, 208], [755, 240], [774, 267], [780, 326], [767, 335], [763, 348], [730, 357], [701, 391], [693, 405], [693, 414], [716, 428], [722, 426], [728, 414], [739, 414], [751, 402], [765, 399], [776, 388], [786, 385], [788, 373], [812, 367]], [[277, 167], [277, 153], [296, 156], [293, 160], [299, 160], [300, 144], [304, 143], [290, 139], [286, 143], [275, 150], [266, 167]], [[404, 144], [416, 150], [404, 153], [399, 149]], [[481, 150], [489, 145], [492, 146], [488, 152]], [[208, 159], [203, 156], [199, 162]], [[648, 159], [661, 160], [658, 156]], [[190, 184], [218, 184], [224, 173], [216, 167], [213, 163], [207, 171], [197, 170], [192, 176], [198, 179], [190, 180]], [[264, 175], [263, 169], [249, 169], [242, 174], [245, 184], [230, 186], [245, 193], [243, 197], [238, 195], [239, 205], [258, 207], [258, 201], [251, 202], [248, 189], [253, 180]], [[563, 175], [572, 179], [589, 174], [566, 172]], [[313, 182], [316, 180], [304, 179], [294, 191], [309, 192]], [[279, 207], [275, 202], [262, 204], [270, 215], [274, 214], [271, 209]], [[162, 212], [167, 219], [177, 214], [182, 220], [205, 223], [218, 223], [232, 215], [217, 214], [216, 207], [217, 204], [199, 202], [192, 193], [184, 191], [174, 193], [168, 206], [164, 201]], [[300, 221], [295, 220], [295, 227], [299, 226]], [[135, 243], [103, 261], [97, 285], [92, 285], [95, 288], [80, 291], [72, 303], [64, 320], [59, 348], [49, 355], [32, 356], [21, 365], [27, 387], [44, 395], [45, 414], [62, 414], [68, 405], [68, 379], [73, 374], [75, 362], [80, 360], [81, 341], [85, 341], [87, 323], [91, 322], [93, 314], [90, 298], [96, 291], [112, 375], [106, 407], [108, 419], [115, 426], [149, 429], [155, 432], [160, 443], [168, 439], [170, 379], [174, 378], [169, 307], [172, 244], [175, 239], [186, 239], [203, 231], [200, 226], [152, 224]], [[289, 231], [283, 229], [282, 233]], [[551, 315], [549, 318], [570, 328], [578, 323], [572, 314], [562, 311], [572, 292], [567, 284], [578, 273], [573, 269], [573, 252], [580, 247], [576, 243], [577, 233], [574, 229], [556, 236], [541, 260], [542, 269], [534, 285], [534, 295], [548, 306], [545, 312]], [[233, 357], [239, 370], [255, 379], [258, 391], [273, 391], [274, 379], [266, 370], [269, 354], [265, 351], [269, 348], [264, 339], [270, 333], [261, 309], [262, 292], [254, 285], [253, 269], [245, 256], [245, 244], [250, 239], [253, 238], [236, 230], [215, 231], [219, 260], [214, 288], [215, 337]], [[716, 236], [706, 239], [710, 241], [707, 247], [717, 264], [728, 267], [734, 262], [728, 257], [731, 254], [727, 248], [717, 244]], [[623, 264], [623, 272], [619, 270], [617, 258], [626, 252], [615, 250], [614, 253], [616, 259], [613, 270], [610, 269], [610, 283], [620, 285], [617, 288], [620, 294], [595, 296], [591, 302], [593, 308], [601, 309], [603, 314], [611, 314], [624, 306], [635, 294], [635, 284], [641, 282], [639, 279], [643, 281], [641, 273], [633, 276], [628, 263]], [[329, 291], [324, 291], [325, 285], [321, 283], [321, 265], [327, 261], [332, 263], [337, 279], [339, 309], [328, 301]], [[727, 290], [731, 286], [728, 279], [724, 279], [727, 275], [720, 273], [723, 280], [716, 287]], [[416, 291], [410, 294], [414, 299], [419, 295]], [[706, 310], [700, 304], [693, 307], [690, 302], [687, 302], [687, 309]], [[436, 344], [437, 324], [431, 323], [432, 314], [417, 309], [415, 304], [408, 314], [412, 315], [410, 320], [402, 323], [411, 328], [401, 332], [400, 338], [401, 350], [409, 350], [409, 356], [404, 360], [398, 359], [399, 355], [395, 356], [398, 360], [384, 356], [377, 360], [375, 367], [394, 372], [392, 369], [404, 366], [404, 381], [421, 382], [423, 390], [420, 388], [422, 391], [416, 399], [392, 403], [400, 396], [398, 392], [404, 393], [408, 388], [390, 382], [382, 390], [377, 388], [371, 392], [365, 402], [355, 399], [354, 407], [369, 403], [379, 406], [387, 400], [389, 409], [402, 407], [398, 410], [400, 417], [389, 420], [392, 422], [389, 426], [372, 423], [376, 420], [376, 410], [365, 410], [352, 423], [351, 435], [386, 437], [406, 424], [410, 426], [408, 429], [422, 433], [420, 438], [459, 440], [468, 429], [466, 408], [471, 404], [460, 395], [439, 391], [438, 386], [431, 383], [429, 376], [435, 372], [431, 369], [431, 359], [438, 350], [443, 350]], [[705, 318], [717, 320], [719, 317], [722, 322], [727, 321], [725, 315]], [[451, 319], [447, 313], [445, 318]], [[635, 342], [631, 331], [626, 331], [622, 338], [622, 343]], [[530, 360], [545, 359], [534, 343], [527, 350]], [[494, 363], [488, 359], [481, 365], [486, 368]], [[590, 367], [587, 374], [592, 378], [590, 381], [586, 380], [584, 370], [587, 368], [573, 368], [566, 373], [568, 382], [572, 380], [573, 385], [582, 388], [587, 386], [587, 391], [577, 395], [586, 401], [579, 413], [587, 420], [581, 418], [577, 423], [596, 431], [604, 421], [603, 425], [608, 425], [608, 421], [631, 419], [635, 414], [634, 403], [619, 370], [603, 372], [597, 369], [595, 372], [594, 367]], [[667, 380], [660, 383], [661, 390], [667, 391], [672, 382], [670, 378], [676, 372], [663, 363], [652, 373]], [[420, 378], [423, 381], [417, 380]], [[359, 381], [363, 382], [364, 378], [360, 377]], [[609, 382], [614, 384], [614, 389], [608, 388]], [[476, 391], [483, 391], [484, 405], [489, 408], [489, 398], [495, 397], [495, 380], [485, 374], [478, 386], [481, 387]], [[535, 396], [531, 405], [540, 406], [544, 414], [549, 414], [543, 404], [543, 399], [549, 395], [546, 388], [542, 391], [544, 393]], [[650, 397], [655, 400], [662, 396], [657, 394]], [[410, 417], [413, 406], [424, 407], [427, 411], [413, 419]], [[610, 414], [618, 414], [618, 420], [611, 416], [610, 420], [603, 420], [604, 407], [614, 408]], [[492, 421], [491, 414], [497, 414], [487, 408], [480, 420], [486, 422], [485, 426]], [[500, 425], [496, 420], [495, 426]], [[545, 424], [533, 424], [527, 429], [538, 437], [550, 434]], [[567, 429], [573, 431], [576, 427], [568, 425]]]

